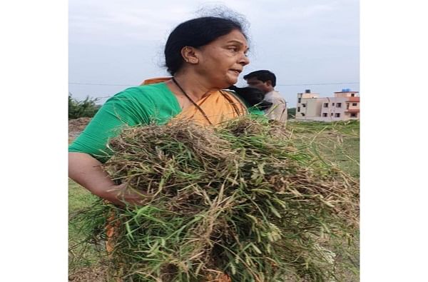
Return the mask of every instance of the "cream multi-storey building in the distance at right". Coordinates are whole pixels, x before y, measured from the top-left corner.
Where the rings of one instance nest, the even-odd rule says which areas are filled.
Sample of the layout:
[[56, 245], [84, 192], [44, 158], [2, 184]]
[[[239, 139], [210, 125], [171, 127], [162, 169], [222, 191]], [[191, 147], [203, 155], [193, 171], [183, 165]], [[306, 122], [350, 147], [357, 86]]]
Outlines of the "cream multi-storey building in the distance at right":
[[307, 121], [347, 121], [360, 119], [360, 96], [358, 91], [342, 89], [334, 97], [320, 94], [297, 93], [296, 119]]

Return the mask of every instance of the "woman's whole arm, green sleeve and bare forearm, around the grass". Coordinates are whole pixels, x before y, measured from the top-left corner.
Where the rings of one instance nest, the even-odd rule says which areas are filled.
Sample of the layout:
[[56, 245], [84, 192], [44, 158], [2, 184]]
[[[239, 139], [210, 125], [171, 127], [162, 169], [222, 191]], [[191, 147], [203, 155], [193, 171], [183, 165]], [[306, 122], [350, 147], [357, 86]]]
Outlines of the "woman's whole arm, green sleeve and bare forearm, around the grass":
[[[106, 147], [108, 139], [117, 136], [122, 126], [148, 123], [146, 108], [151, 104], [145, 103], [145, 96], [138, 94], [141, 93], [136, 89], [127, 89], [108, 99], [68, 147], [68, 176], [94, 195], [119, 205], [138, 203], [141, 197], [126, 189], [126, 183], [116, 185], [101, 167], [101, 162], [110, 157], [111, 152]], [[141, 109], [141, 104], [147, 107]]]

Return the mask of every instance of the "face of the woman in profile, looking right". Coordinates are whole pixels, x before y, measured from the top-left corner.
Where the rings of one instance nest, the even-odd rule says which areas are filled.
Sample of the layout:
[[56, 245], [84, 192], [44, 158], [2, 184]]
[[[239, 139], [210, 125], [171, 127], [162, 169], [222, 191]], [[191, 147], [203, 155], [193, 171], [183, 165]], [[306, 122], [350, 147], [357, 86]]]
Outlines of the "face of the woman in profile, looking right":
[[198, 49], [197, 71], [214, 86], [227, 88], [238, 81], [244, 66], [250, 64], [248, 42], [238, 30], [220, 36]]

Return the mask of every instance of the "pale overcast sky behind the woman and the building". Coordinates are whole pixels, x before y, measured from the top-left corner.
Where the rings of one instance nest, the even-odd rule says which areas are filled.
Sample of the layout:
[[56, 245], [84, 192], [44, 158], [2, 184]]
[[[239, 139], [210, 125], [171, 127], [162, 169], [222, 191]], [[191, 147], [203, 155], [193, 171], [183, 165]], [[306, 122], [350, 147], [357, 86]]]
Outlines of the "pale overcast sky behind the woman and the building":
[[[200, 8], [226, 5], [197, 0], [68, 3], [68, 82], [77, 99], [112, 96], [144, 79], [167, 76], [163, 46], [170, 31], [198, 16]], [[243, 74], [274, 72], [275, 89], [290, 108], [305, 89], [320, 96], [345, 88], [360, 91], [359, 1], [229, 0], [226, 6], [250, 24], [250, 64]], [[245, 86], [243, 74], [238, 86]]]

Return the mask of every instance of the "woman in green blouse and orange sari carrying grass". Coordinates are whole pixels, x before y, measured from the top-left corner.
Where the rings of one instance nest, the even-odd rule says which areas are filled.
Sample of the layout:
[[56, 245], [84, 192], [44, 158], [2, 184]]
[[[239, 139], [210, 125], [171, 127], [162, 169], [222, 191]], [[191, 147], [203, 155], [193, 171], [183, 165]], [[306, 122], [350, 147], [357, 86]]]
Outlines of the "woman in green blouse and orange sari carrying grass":
[[[254, 101], [243, 99], [257, 90], [233, 88], [240, 96], [222, 90], [233, 86], [249, 64], [247, 51], [247, 36], [238, 21], [208, 16], [178, 25], [165, 44], [165, 65], [173, 77], [146, 81], [106, 101], [69, 147], [70, 178], [113, 203], [138, 203], [137, 193], [124, 189], [126, 183], [114, 183], [100, 166], [110, 153], [108, 139], [125, 125], [180, 118], [215, 126], [236, 116], [261, 114], [251, 107]], [[258, 92], [253, 94], [250, 97]]]

